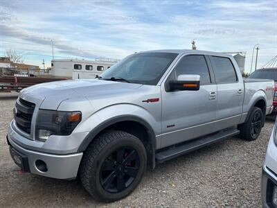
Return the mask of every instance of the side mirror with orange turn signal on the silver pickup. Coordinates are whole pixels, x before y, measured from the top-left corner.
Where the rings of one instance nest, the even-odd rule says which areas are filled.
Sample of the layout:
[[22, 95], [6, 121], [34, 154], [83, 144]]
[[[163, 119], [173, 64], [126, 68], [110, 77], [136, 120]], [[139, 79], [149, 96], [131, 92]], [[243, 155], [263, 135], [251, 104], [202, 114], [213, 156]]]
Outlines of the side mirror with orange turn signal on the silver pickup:
[[177, 90], [199, 90], [200, 88], [200, 76], [197, 74], [181, 74], [177, 80], [171, 80], [170, 91]]

